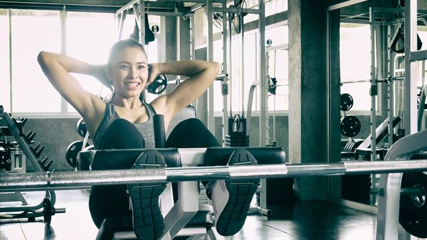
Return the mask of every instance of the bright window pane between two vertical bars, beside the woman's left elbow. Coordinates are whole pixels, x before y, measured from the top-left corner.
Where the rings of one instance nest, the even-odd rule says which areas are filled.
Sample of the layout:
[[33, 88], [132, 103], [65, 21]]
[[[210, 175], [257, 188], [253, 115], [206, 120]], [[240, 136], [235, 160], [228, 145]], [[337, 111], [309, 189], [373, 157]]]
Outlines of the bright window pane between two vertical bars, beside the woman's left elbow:
[[37, 62], [41, 50], [60, 51], [59, 12], [12, 10], [11, 26], [11, 111], [60, 112], [60, 95], [47, 81]]

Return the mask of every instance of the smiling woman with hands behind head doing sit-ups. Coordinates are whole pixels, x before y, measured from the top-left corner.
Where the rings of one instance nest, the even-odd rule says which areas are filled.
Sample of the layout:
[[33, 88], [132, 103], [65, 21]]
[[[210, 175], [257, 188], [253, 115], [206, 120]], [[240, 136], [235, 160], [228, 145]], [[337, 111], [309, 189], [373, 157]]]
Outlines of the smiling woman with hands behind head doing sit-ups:
[[[165, 129], [168, 129], [168, 125], [176, 113], [200, 97], [214, 82], [219, 71], [217, 62], [200, 60], [148, 64], [143, 46], [130, 38], [119, 40], [113, 45], [106, 66], [91, 65], [69, 56], [45, 51], [39, 53], [38, 62], [54, 88], [83, 117], [95, 149], [154, 147], [152, 117], [156, 114], [163, 115]], [[114, 88], [111, 100], [104, 102], [96, 95], [84, 90], [70, 73], [92, 75], [104, 84], [111, 83]], [[140, 95], [144, 94], [146, 86], [151, 84], [159, 74], [185, 75], [188, 78], [170, 93], [161, 95], [148, 104], [141, 100], [143, 98]], [[193, 136], [188, 134], [193, 134]], [[173, 140], [170, 141], [170, 139]], [[196, 145], [194, 145], [195, 141]], [[178, 124], [171, 132], [167, 142], [168, 147], [183, 147], [183, 145], [187, 147], [220, 146], [203, 123], [194, 119]], [[133, 168], [150, 165], [146, 161], [138, 158]], [[159, 167], [164, 166], [165, 163], [159, 163]], [[115, 163], [114, 166], [103, 166], [102, 169], [124, 167], [126, 166]], [[139, 239], [157, 239], [164, 230], [164, 221], [158, 204], [159, 195], [164, 187], [154, 186], [151, 189], [124, 185], [92, 187], [89, 197], [91, 217], [95, 225], [100, 228], [106, 217], [130, 215], [130, 208], [132, 208], [133, 227], [137, 237]], [[147, 194], [147, 191], [150, 192], [151, 200], [148, 202], [143, 201], [143, 195]], [[212, 193], [215, 191], [212, 190]], [[245, 194], [250, 196], [253, 193]], [[129, 204], [129, 196], [132, 200], [131, 204]], [[224, 202], [224, 196], [221, 198], [221, 202]], [[229, 199], [226, 199], [225, 205], [236, 204], [236, 200], [231, 197], [227, 198]], [[212, 200], [215, 200], [214, 196], [212, 196]], [[135, 202], [139, 205], [135, 206]], [[220, 206], [215, 214], [220, 214], [223, 208], [227, 208], [225, 205]], [[150, 221], [146, 221], [146, 210], [151, 215]], [[241, 211], [241, 209], [236, 211]], [[216, 224], [228, 225], [228, 221], [233, 220], [227, 216], [218, 217], [217, 219], [221, 219], [222, 223], [217, 220]], [[244, 222], [244, 219], [239, 219], [239, 221]], [[238, 225], [240, 226], [240, 224]], [[218, 232], [222, 235], [234, 235], [240, 230], [241, 226], [239, 226], [224, 228]]]

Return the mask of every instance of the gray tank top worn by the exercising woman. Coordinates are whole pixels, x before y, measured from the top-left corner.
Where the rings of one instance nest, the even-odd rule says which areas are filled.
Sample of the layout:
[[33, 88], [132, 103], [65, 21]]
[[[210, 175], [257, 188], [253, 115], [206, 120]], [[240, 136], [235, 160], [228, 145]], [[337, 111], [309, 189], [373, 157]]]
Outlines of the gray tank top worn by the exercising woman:
[[[133, 125], [135, 125], [137, 130], [141, 132], [143, 139], [146, 141], [146, 148], [154, 148], [154, 125], [152, 117], [156, 115], [156, 111], [150, 104], [146, 104], [143, 101], [141, 102], [148, 110], [148, 120], [143, 123], [133, 123]], [[115, 119], [119, 118], [120, 117], [117, 115], [114, 105], [108, 101], [106, 103], [104, 118], [102, 119], [100, 126], [97, 128], [95, 136], [93, 136], [93, 145], [95, 145], [95, 149], [99, 149], [102, 137], [110, 124], [113, 123]]]

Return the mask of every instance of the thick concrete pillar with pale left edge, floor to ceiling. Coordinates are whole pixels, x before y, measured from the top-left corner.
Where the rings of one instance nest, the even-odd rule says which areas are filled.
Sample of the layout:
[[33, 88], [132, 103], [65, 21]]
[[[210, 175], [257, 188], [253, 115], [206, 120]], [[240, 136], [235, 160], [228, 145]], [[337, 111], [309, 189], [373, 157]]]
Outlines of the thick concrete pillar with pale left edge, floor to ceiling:
[[[327, 27], [325, 1], [288, 2], [289, 160], [319, 163], [328, 158]], [[296, 178], [299, 200], [323, 200], [329, 178]]]

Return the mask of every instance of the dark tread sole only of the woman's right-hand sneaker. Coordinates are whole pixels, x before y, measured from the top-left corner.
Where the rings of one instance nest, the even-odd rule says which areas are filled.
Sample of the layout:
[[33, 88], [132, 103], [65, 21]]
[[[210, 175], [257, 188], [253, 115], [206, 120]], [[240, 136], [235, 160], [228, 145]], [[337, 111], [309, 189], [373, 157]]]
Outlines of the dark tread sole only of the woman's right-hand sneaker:
[[[257, 160], [246, 149], [236, 149], [228, 165], [256, 165]], [[216, 230], [222, 236], [235, 235], [242, 229], [248, 215], [253, 195], [257, 191], [259, 178], [225, 180], [229, 200], [216, 220]]]

